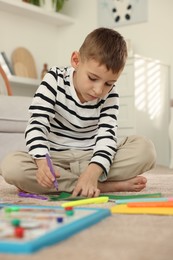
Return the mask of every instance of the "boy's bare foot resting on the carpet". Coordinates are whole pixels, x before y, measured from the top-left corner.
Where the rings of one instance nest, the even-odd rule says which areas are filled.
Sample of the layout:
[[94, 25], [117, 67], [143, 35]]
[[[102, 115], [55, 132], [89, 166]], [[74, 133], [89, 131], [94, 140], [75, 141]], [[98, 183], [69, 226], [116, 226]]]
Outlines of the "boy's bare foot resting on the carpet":
[[98, 188], [101, 192], [116, 191], [141, 191], [146, 187], [147, 179], [144, 176], [136, 176], [125, 181], [99, 182]]

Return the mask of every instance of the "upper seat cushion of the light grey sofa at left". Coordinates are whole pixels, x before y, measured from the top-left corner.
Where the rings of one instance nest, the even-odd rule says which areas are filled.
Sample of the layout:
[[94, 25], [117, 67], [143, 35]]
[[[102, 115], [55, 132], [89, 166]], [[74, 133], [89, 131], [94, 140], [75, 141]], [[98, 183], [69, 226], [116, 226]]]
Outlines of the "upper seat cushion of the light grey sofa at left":
[[32, 97], [0, 96], [0, 132], [24, 132]]

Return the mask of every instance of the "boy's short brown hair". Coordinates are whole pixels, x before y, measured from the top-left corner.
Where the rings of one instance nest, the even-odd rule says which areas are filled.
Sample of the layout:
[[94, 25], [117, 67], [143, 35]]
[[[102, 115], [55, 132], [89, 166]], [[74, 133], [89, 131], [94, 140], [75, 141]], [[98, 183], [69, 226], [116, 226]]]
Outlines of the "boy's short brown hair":
[[121, 34], [103, 27], [87, 35], [79, 52], [82, 61], [93, 59], [113, 73], [121, 71], [127, 59], [127, 46]]

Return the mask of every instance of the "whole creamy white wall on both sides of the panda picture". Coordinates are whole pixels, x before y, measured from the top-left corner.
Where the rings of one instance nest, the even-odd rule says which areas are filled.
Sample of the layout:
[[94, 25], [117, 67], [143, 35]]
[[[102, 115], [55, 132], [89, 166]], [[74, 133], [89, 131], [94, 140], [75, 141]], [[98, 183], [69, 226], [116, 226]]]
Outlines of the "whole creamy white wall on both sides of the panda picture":
[[[170, 65], [170, 96], [173, 98], [173, 1], [148, 0], [148, 3], [147, 22], [115, 29], [132, 41], [134, 53]], [[38, 76], [45, 62], [49, 66], [68, 65], [71, 52], [77, 50], [86, 34], [98, 26], [97, 0], [68, 0], [63, 12], [73, 17], [75, 24], [58, 27], [0, 10], [0, 51], [10, 57], [15, 48], [28, 48], [35, 58]], [[167, 135], [167, 128], [165, 126], [160, 138]]]

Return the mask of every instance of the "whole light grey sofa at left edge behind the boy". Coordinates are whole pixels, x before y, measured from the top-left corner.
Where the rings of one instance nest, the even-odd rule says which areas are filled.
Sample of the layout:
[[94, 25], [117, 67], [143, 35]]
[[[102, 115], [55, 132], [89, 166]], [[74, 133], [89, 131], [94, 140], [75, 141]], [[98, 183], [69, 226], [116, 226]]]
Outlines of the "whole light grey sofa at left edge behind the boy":
[[0, 95], [0, 161], [9, 152], [26, 150], [24, 131], [31, 97]]

